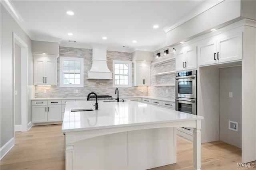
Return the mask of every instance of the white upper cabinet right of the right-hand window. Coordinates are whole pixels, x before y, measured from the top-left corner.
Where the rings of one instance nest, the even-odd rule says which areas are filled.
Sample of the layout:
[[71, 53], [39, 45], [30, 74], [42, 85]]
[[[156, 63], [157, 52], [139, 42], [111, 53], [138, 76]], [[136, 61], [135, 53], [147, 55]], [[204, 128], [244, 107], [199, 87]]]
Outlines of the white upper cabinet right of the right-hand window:
[[150, 86], [150, 61], [134, 62], [134, 86]]

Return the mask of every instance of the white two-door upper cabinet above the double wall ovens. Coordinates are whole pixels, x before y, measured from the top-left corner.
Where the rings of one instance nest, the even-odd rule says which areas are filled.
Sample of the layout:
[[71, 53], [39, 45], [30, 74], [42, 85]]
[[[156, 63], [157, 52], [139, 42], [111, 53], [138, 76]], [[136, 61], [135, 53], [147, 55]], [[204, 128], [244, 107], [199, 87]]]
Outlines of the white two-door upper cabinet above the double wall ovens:
[[176, 49], [176, 71], [196, 69], [197, 55], [196, 45], [188, 45]]

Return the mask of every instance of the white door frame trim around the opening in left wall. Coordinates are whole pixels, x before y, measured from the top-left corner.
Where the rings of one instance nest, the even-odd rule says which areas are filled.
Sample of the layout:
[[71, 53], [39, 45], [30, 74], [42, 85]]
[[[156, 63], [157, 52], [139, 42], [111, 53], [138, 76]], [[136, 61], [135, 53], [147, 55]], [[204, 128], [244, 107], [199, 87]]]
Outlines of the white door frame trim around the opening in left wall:
[[[13, 117], [15, 116], [15, 43], [21, 47], [21, 131], [28, 131], [28, 45], [16, 34], [13, 32], [13, 46], [12, 46], [12, 72], [13, 72]], [[15, 119], [14, 127], [15, 127]], [[15, 128], [14, 128], [15, 129]], [[15, 130], [14, 130], [15, 131]]]

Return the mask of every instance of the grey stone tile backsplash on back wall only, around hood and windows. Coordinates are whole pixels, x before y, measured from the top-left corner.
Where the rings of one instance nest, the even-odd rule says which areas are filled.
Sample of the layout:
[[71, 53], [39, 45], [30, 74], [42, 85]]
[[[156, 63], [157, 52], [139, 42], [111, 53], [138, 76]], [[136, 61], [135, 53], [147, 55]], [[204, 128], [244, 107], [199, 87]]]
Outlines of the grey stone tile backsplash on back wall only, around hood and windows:
[[[92, 65], [92, 50], [72, 47], [60, 47], [61, 57], [82, 57], [84, 58], [84, 87], [83, 88], [60, 88], [60, 59], [57, 59], [57, 86], [35, 86], [36, 98], [65, 98], [65, 97], [86, 97], [90, 92], [98, 95], [109, 95], [116, 97], [112, 80], [87, 79], [88, 71]], [[113, 60], [132, 61], [131, 53], [107, 51], [107, 64], [112, 71]], [[133, 67], [132, 67], [133, 68]], [[133, 70], [132, 70], [133, 74]], [[133, 75], [132, 75], [133, 77]], [[133, 84], [133, 82], [132, 82]], [[148, 87], [132, 86], [131, 88], [118, 88], [119, 96], [147, 96]], [[78, 90], [78, 93], [76, 93]]]

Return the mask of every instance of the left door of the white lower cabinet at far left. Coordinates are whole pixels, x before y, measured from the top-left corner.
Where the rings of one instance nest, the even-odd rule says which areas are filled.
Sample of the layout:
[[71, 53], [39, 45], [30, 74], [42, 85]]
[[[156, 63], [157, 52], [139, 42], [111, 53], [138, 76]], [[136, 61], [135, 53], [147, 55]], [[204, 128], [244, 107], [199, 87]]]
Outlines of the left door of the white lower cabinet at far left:
[[32, 106], [32, 123], [47, 122], [46, 105]]

